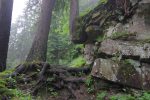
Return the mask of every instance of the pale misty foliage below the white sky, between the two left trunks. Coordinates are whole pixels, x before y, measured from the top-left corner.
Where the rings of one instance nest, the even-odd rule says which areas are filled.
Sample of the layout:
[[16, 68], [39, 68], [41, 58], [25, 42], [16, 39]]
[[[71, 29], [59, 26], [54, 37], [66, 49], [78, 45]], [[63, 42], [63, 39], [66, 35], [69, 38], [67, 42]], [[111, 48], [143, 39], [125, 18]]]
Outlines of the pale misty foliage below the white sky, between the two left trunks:
[[25, 8], [11, 26], [7, 66], [13, 68], [25, 61], [32, 46], [40, 12], [39, 0], [27, 0]]

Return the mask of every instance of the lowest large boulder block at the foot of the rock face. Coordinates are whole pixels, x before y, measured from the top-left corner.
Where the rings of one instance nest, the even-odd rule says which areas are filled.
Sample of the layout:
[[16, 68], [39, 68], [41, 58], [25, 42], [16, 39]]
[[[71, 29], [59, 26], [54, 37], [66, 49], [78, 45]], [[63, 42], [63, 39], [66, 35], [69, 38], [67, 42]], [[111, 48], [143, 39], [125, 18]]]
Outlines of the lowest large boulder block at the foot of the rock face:
[[131, 59], [125, 61], [96, 59], [92, 75], [133, 88], [150, 89], [150, 65]]

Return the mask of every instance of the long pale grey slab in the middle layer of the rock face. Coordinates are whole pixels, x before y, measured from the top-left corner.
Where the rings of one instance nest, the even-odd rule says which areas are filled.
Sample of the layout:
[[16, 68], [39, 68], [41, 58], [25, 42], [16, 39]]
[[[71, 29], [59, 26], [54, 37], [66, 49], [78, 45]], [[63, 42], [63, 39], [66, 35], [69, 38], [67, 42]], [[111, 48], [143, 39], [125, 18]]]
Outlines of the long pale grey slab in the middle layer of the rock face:
[[150, 62], [150, 43], [107, 39], [101, 43], [98, 52], [111, 56], [122, 56]]

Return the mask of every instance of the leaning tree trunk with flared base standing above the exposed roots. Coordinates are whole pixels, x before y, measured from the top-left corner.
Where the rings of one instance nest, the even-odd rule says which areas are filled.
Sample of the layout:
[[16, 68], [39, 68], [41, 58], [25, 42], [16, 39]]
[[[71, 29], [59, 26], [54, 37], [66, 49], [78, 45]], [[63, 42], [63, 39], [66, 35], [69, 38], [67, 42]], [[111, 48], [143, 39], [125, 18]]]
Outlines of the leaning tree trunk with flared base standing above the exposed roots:
[[26, 59], [27, 62], [46, 61], [48, 34], [55, 0], [42, 0], [36, 36]]

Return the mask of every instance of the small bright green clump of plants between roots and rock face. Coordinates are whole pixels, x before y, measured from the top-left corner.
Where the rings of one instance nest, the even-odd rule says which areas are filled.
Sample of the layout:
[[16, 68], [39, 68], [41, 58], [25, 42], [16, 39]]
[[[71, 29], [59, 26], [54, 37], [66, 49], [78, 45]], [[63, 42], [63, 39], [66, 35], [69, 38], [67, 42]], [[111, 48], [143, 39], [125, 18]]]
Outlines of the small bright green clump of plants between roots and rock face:
[[70, 63], [71, 67], [82, 67], [86, 63], [85, 59], [82, 56], [79, 56]]

